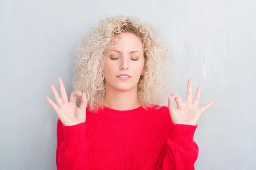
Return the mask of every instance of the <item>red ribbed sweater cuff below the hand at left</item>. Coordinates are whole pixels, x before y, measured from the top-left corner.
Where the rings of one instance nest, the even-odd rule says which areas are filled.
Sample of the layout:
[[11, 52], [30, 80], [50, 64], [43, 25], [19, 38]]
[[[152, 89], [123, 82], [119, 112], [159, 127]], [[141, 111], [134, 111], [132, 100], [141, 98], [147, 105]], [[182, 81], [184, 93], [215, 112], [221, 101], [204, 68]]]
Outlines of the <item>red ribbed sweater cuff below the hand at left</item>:
[[73, 126], [64, 126], [65, 140], [68, 143], [81, 143], [86, 140], [86, 122]]

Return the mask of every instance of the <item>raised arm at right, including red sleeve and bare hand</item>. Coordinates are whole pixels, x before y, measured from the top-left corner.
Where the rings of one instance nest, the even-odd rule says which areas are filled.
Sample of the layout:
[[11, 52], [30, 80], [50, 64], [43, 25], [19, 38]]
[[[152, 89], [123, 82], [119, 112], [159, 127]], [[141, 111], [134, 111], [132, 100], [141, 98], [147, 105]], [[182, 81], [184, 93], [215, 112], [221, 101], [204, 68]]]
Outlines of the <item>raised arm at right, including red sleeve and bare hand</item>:
[[[172, 119], [169, 137], [157, 161], [157, 170], [194, 170], [198, 158], [198, 145], [193, 141], [195, 129], [201, 115], [214, 103], [212, 100], [202, 108], [198, 108], [201, 86], [192, 101], [192, 79], [188, 80], [186, 102], [179, 94], [169, 96], [168, 107]], [[175, 108], [174, 102], [177, 104]]]

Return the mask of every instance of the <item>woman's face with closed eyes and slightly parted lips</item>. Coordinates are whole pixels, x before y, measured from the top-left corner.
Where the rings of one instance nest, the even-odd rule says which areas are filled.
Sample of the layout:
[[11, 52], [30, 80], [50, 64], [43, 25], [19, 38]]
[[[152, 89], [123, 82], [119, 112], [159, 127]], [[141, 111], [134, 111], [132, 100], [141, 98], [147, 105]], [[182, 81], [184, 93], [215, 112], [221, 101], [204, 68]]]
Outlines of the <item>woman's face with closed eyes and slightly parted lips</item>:
[[[119, 39], [118, 41], [115, 41]], [[143, 74], [144, 56], [143, 44], [139, 37], [132, 33], [122, 32], [122, 37], [117, 34], [110, 44], [116, 46], [105, 53], [106, 87], [118, 91], [137, 89], [137, 83]], [[124, 76], [120, 76], [125, 74]]]

